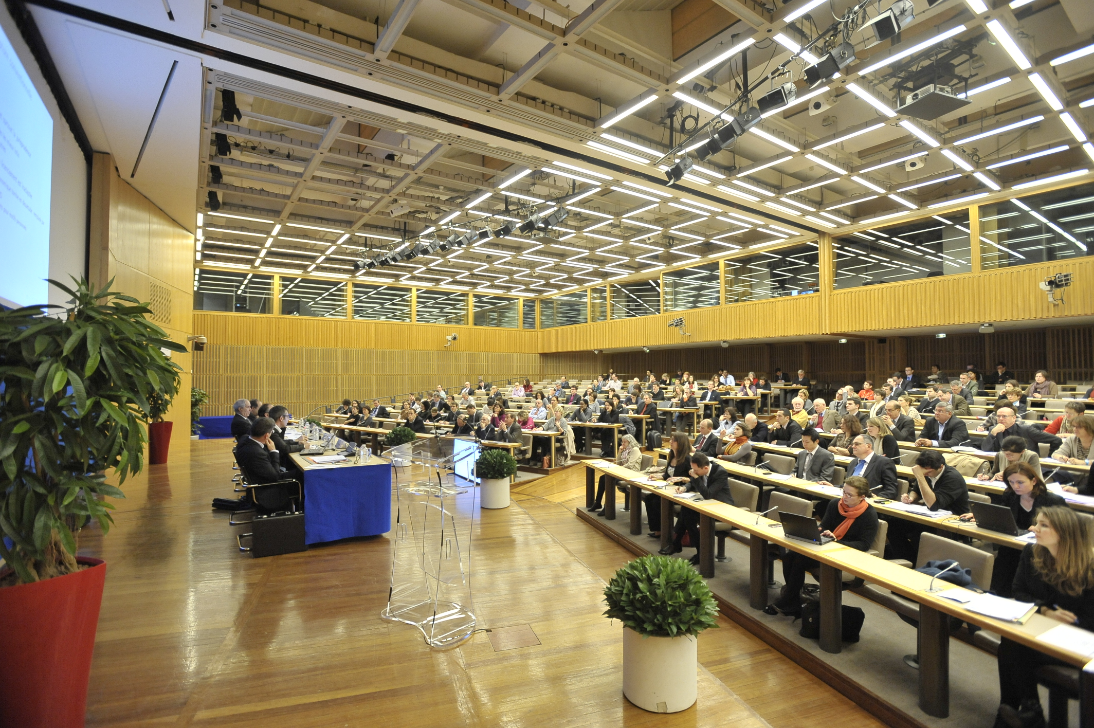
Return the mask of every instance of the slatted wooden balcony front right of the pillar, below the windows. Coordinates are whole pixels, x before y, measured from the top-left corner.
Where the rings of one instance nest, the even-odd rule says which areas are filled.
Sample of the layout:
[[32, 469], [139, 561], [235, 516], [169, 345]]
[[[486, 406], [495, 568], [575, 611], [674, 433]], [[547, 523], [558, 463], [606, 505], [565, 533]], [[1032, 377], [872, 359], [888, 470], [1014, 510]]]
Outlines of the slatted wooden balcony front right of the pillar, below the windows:
[[[1067, 303], [1052, 305], [1037, 288], [1047, 276], [1074, 274]], [[830, 331], [979, 324], [1094, 314], [1094, 259], [1074, 258], [955, 276], [833, 291]], [[863, 315], [869, 312], [868, 315]]]

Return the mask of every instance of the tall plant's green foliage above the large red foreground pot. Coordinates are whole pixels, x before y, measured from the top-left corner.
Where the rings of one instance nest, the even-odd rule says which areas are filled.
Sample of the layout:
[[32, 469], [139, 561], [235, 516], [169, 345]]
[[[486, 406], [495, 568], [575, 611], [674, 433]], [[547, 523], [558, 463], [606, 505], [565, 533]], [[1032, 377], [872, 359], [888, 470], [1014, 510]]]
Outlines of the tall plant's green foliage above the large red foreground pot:
[[[67, 307], [0, 312], [0, 556], [19, 582], [77, 570], [79, 529], [109, 530], [121, 485], [144, 464], [146, 423], [177, 393], [185, 351], [146, 319], [147, 304], [85, 280]], [[48, 309], [61, 309], [47, 313]]]

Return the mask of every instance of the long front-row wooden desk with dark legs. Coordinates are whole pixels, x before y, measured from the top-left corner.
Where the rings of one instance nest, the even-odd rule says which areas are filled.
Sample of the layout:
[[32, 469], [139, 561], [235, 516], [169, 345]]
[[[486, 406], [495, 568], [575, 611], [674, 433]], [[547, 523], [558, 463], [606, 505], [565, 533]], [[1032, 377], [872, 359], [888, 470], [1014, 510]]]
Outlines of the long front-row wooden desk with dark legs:
[[[1059, 622], [1040, 614], [1034, 614], [1025, 624], [1006, 623], [982, 616], [964, 609], [959, 603], [941, 597], [952, 589], [974, 594], [962, 587], [946, 585], [944, 591], [929, 592], [931, 577], [877, 556], [848, 548], [838, 543], [824, 546], [788, 538], [778, 521], [752, 513], [745, 509], [729, 506], [717, 500], [695, 501], [676, 495], [667, 484], [650, 481], [642, 473], [627, 470], [606, 461], [589, 460], [586, 466], [586, 507], [593, 505], [595, 479], [598, 473], [607, 476], [605, 518], [615, 518], [615, 483], [627, 484], [630, 488], [630, 532], [641, 533], [641, 492], [655, 493], [662, 502], [662, 534], [670, 530], [672, 508], [680, 505], [699, 512], [699, 570], [705, 577], [714, 574], [713, 541], [714, 523], [722, 521], [749, 534], [749, 606], [763, 609], [767, 605], [768, 544], [775, 543], [790, 551], [806, 554], [821, 564], [821, 648], [827, 652], [839, 652], [842, 617], [842, 573], [889, 589], [901, 597], [920, 604], [919, 614], [919, 705], [928, 715], [946, 717], [950, 710], [950, 616], [1003, 635], [1023, 645], [1046, 652], [1083, 669], [1081, 696], [1083, 709], [1089, 710], [1094, 703], [1094, 662], [1084, 654], [1049, 645], [1037, 636], [1057, 626]], [[729, 465], [732, 465], [730, 463]], [[740, 467], [740, 466], [738, 466]], [[729, 470], [729, 469], [728, 469]], [[741, 469], [748, 470], [750, 469]], [[733, 467], [731, 472], [738, 475]], [[750, 476], [750, 475], [749, 475]], [[791, 485], [790, 481], [777, 481], [779, 485]], [[792, 487], [792, 485], [791, 485]], [[1084, 725], [1086, 725], [1084, 723]]]

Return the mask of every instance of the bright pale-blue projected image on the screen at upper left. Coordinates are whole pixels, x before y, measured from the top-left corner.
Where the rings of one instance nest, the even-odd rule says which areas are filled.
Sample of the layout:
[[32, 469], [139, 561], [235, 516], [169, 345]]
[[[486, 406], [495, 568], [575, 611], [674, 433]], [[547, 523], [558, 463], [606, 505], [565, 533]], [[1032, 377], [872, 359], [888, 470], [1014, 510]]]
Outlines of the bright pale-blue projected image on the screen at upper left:
[[0, 31], [0, 303], [45, 303], [54, 119]]

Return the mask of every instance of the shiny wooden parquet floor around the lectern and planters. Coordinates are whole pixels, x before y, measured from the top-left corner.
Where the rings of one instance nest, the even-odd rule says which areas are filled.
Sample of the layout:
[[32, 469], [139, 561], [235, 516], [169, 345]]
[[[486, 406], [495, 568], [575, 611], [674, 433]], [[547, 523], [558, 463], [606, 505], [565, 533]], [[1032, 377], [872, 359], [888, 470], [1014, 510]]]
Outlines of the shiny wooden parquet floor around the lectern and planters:
[[107, 561], [89, 726], [881, 725], [725, 619], [700, 637], [694, 708], [630, 705], [601, 597], [631, 555], [574, 517], [581, 467], [514, 487], [475, 529], [480, 625], [528, 625], [539, 644], [494, 651], [479, 633], [437, 651], [379, 616], [386, 536], [240, 553], [209, 509], [230, 497], [230, 465], [228, 441], [193, 442], [125, 484], [109, 534], [82, 534], [81, 553]]

